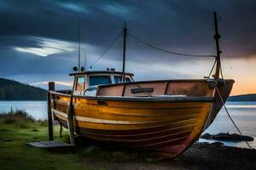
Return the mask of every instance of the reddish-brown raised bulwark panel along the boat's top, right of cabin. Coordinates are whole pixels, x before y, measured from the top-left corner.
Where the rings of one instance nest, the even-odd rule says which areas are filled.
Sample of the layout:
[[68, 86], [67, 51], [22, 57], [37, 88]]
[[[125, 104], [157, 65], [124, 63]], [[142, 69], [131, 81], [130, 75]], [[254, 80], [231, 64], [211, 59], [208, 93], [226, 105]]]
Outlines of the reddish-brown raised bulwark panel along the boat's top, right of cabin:
[[185, 95], [188, 97], [207, 97], [213, 95], [215, 82], [198, 80], [164, 80], [145, 82], [125, 82], [113, 85], [101, 85], [97, 96], [152, 97], [163, 95]]

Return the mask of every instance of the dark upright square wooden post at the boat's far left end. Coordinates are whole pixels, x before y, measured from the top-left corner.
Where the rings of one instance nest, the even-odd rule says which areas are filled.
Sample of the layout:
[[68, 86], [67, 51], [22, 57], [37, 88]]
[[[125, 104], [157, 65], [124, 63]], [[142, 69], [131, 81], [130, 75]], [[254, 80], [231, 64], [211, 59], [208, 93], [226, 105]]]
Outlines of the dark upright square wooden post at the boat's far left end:
[[[55, 82], [48, 83], [49, 91], [55, 91]], [[47, 106], [48, 106], [48, 139], [54, 140], [54, 132], [53, 132], [53, 116], [51, 113], [51, 96], [50, 93], [47, 93]]]

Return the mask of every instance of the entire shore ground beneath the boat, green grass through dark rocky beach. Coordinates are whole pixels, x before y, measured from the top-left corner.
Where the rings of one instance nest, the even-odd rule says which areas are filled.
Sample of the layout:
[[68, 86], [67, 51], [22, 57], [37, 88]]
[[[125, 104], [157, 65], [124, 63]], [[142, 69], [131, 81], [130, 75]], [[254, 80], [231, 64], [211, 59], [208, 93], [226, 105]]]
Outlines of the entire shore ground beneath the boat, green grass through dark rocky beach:
[[[55, 125], [55, 134], [59, 134]], [[47, 140], [47, 122], [24, 111], [0, 115], [0, 169], [256, 169], [256, 150], [193, 144], [174, 160], [157, 161], [142, 150], [125, 150], [76, 138], [73, 152], [49, 152], [27, 146]], [[68, 142], [68, 132], [55, 140]]]

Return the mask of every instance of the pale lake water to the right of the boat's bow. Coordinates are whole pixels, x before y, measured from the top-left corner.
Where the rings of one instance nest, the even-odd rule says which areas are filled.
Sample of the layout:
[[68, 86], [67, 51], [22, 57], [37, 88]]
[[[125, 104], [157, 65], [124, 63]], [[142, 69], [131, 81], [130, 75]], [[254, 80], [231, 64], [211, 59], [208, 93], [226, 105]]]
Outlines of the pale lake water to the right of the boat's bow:
[[[252, 136], [256, 140], [256, 102], [227, 102], [227, 109], [243, 135]], [[238, 133], [230, 121], [224, 108], [218, 113], [212, 125], [204, 133]], [[200, 142], [215, 142], [214, 140], [200, 139]], [[223, 141], [221, 141], [223, 142]], [[225, 145], [248, 148], [245, 142], [223, 142]], [[248, 142], [256, 149], [256, 141]]]

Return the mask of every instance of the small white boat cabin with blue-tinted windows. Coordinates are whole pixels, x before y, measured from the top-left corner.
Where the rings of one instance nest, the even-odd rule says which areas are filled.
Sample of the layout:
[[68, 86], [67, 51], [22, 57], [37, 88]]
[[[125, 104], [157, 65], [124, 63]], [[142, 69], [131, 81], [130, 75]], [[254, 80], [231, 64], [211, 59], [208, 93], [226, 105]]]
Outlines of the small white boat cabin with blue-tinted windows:
[[[74, 95], [96, 95], [96, 89], [99, 85], [116, 84], [122, 82], [122, 72], [107, 70], [107, 71], [82, 71], [72, 73], [74, 76]], [[133, 74], [125, 73], [125, 82], [133, 82]]]

